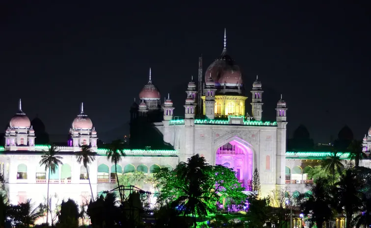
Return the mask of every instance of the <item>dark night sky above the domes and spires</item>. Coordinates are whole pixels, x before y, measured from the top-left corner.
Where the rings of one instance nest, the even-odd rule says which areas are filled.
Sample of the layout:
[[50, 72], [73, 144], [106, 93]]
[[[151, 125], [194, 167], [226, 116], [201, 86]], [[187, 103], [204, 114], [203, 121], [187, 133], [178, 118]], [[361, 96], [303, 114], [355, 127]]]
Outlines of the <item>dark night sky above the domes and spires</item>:
[[371, 126], [367, 1], [40, 2], [0, 3], [0, 126], [22, 98], [30, 119], [38, 113], [48, 132], [67, 134], [84, 101], [98, 136], [123, 135], [149, 67], [183, 115], [198, 57], [205, 72], [222, 51], [224, 27], [247, 92], [257, 74], [262, 80], [265, 120], [274, 121], [282, 93], [289, 135], [304, 124], [327, 142], [346, 124], [361, 139]]

